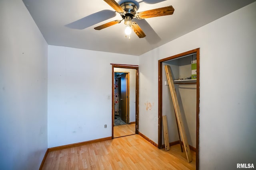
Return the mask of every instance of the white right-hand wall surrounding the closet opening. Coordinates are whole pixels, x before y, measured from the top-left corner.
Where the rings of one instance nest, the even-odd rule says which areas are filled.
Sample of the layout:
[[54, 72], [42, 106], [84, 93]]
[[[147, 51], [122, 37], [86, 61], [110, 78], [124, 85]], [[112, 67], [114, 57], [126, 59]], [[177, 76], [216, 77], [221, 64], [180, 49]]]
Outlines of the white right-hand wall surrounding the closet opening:
[[200, 47], [202, 170], [256, 164], [255, 9], [256, 2], [140, 56], [139, 130], [157, 142], [158, 59]]

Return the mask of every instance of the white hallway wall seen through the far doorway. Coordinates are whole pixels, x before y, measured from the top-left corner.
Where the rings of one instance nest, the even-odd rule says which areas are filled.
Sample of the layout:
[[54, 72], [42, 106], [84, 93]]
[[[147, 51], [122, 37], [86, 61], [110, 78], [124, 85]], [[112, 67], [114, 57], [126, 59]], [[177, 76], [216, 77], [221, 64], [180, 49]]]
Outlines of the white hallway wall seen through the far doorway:
[[134, 122], [136, 119], [136, 69], [130, 68], [114, 68], [114, 71], [129, 72], [129, 113], [130, 122]]

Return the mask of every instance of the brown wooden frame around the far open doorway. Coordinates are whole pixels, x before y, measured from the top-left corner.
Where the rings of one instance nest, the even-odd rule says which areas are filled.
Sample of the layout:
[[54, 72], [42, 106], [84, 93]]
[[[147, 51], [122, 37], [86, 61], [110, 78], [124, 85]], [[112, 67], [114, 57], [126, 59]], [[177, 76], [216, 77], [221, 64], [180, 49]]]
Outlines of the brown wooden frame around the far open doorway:
[[135, 92], [135, 134], [139, 133], [139, 67], [137, 65], [111, 64], [112, 65], [112, 139], [114, 139], [114, 68], [136, 69], [136, 92]]

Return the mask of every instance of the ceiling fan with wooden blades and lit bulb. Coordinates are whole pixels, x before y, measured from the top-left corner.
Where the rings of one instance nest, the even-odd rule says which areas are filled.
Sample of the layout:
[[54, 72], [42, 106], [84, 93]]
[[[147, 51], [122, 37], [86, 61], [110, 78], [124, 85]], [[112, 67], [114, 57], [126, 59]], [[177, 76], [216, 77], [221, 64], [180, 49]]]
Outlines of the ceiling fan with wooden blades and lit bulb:
[[[125, 34], [129, 36], [129, 39], [130, 39], [130, 34], [132, 30], [136, 33], [136, 35], [139, 38], [146, 37], [146, 34], [142, 31], [140, 26], [136, 22], [132, 22], [133, 18], [137, 18], [141, 20], [145, 18], [172, 15], [174, 12], [174, 8], [172, 6], [166, 6], [163, 8], [137, 12], [138, 7], [134, 2], [129, 2], [129, 0], [128, 2], [124, 2], [121, 5], [119, 5], [115, 0], [104, 0], [104, 1], [122, 16], [123, 18], [122, 20], [124, 20], [124, 24], [126, 25]], [[94, 29], [101, 30], [106, 27], [110, 27], [112, 25], [120, 23], [122, 20], [110, 21], [108, 23], [104, 23], [103, 25], [95, 27]]]

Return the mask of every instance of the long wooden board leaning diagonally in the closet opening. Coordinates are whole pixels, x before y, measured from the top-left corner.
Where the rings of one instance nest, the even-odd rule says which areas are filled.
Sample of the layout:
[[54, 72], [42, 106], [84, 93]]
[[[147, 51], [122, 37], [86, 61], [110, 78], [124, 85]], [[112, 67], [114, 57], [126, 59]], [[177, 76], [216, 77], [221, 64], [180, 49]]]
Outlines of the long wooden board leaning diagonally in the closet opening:
[[181, 135], [181, 139], [182, 139], [183, 144], [184, 144], [184, 149], [185, 149], [185, 152], [186, 152], [187, 160], [188, 160], [188, 162], [191, 162], [192, 161], [192, 156], [191, 156], [191, 153], [190, 153], [190, 148], [189, 148], [189, 145], [188, 145], [186, 132], [185, 132], [185, 129], [184, 129], [182, 118], [181, 118], [180, 106], [179, 106], [179, 103], [178, 103], [177, 94], [176, 94], [173, 79], [172, 79], [172, 72], [171, 72], [171, 69], [170, 69], [169, 65], [165, 65], [164, 68], [165, 68], [166, 77], [167, 77], [167, 80], [168, 80], [170, 92], [171, 92], [171, 95], [172, 95], [174, 110], [175, 110], [175, 114], [176, 114], [176, 117], [177, 117], [177, 120], [178, 120], [180, 135]]

